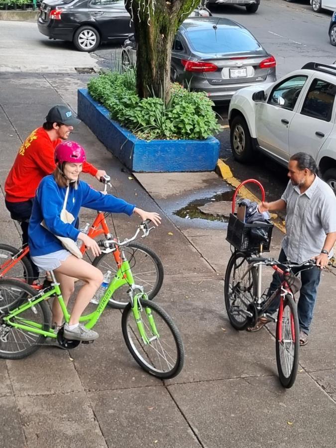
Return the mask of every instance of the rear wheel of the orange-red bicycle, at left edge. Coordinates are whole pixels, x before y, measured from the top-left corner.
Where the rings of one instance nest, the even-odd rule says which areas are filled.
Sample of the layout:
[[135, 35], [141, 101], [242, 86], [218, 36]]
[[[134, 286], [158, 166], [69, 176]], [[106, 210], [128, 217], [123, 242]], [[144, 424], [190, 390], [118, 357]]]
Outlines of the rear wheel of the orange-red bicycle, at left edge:
[[20, 251], [8, 244], [0, 244], [0, 278], [17, 278], [25, 280], [29, 285], [34, 281], [33, 268], [29, 259], [24, 256], [16, 263], [13, 263], [10, 269], [3, 274], [3, 270], [8, 266], [12, 258]]

